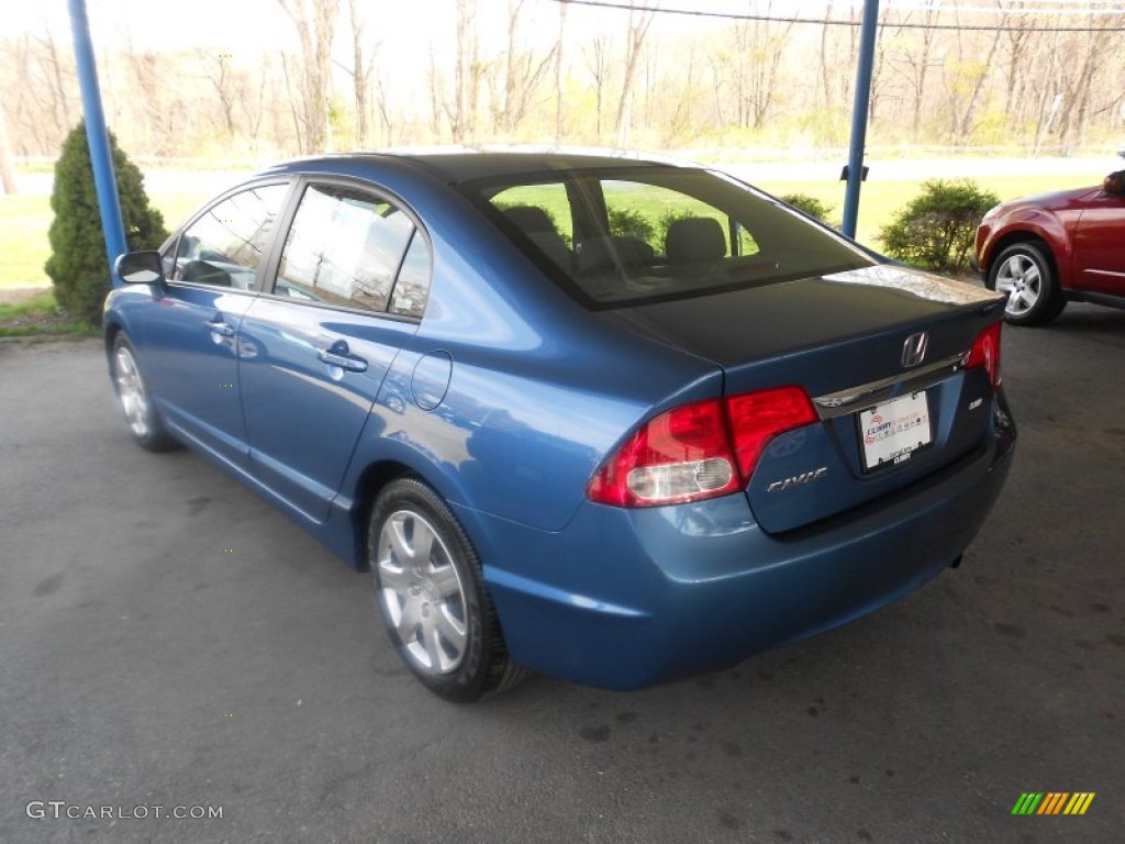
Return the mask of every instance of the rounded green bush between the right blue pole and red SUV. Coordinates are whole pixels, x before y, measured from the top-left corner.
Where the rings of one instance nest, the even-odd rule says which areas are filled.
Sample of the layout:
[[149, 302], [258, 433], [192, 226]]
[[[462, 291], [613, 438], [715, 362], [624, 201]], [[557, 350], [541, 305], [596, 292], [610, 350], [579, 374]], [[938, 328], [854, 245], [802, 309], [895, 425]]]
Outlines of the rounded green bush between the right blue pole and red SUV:
[[891, 258], [933, 270], [969, 266], [969, 254], [981, 217], [1000, 197], [969, 179], [935, 179], [921, 183], [879, 237]]

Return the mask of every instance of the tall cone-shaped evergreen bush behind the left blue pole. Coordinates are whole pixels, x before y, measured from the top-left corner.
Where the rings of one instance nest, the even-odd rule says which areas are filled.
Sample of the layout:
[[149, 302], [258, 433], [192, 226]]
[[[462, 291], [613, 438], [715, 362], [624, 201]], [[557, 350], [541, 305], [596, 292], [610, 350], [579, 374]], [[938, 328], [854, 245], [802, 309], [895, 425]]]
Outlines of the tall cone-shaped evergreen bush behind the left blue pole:
[[[168, 237], [164, 218], [148, 203], [141, 170], [120, 151], [111, 133], [109, 149], [127, 249], [156, 249]], [[47, 233], [51, 258], [44, 269], [54, 285], [55, 299], [71, 316], [96, 325], [101, 321], [101, 303], [109, 293], [110, 280], [83, 123], [63, 142], [55, 163], [51, 209], [55, 218]]]

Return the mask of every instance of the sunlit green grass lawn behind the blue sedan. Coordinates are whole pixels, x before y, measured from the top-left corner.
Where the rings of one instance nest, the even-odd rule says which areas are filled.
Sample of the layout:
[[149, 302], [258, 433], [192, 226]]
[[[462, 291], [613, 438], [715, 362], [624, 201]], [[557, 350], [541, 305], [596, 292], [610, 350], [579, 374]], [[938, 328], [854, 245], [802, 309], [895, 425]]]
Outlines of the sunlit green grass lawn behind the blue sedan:
[[[975, 179], [984, 190], [994, 191], [1001, 199], [1010, 199], [1028, 194], [1048, 190], [1098, 185], [1104, 172], [1079, 174], [1036, 174], [1034, 163], [1026, 173], [1017, 176], [994, 176]], [[878, 181], [863, 186], [860, 199], [858, 240], [880, 246], [879, 230], [894, 213], [918, 192], [920, 181]], [[759, 181], [758, 187], [774, 195], [808, 194], [832, 206], [831, 217], [839, 219], [844, 213], [844, 185], [838, 181]], [[208, 199], [202, 192], [155, 194], [150, 197], [163, 213], [169, 227], [179, 225], [183, 218]], [[511, 200], [526, 197], [511, 197]], [[514, 204], [514, 201], [512, 203]], [[47, 230], [52, 212], [50, 198], [42, 195], [0, 196], [0, 288], [42, 287], [47, 277], [43, 264], [51, 253]]]

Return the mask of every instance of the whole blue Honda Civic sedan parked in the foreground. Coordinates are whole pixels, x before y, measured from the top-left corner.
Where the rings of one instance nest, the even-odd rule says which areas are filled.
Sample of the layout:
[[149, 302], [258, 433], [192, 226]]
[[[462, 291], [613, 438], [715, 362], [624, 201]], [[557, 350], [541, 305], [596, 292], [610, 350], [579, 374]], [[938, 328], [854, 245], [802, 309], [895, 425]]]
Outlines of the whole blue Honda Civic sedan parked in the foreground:
[[1001, 298], [702, 168], [303, 160], [115, 271], [132, 436], [369, 572], [450, 700], [639, 688], [883, 607], [960, 562], [1016, 438]]

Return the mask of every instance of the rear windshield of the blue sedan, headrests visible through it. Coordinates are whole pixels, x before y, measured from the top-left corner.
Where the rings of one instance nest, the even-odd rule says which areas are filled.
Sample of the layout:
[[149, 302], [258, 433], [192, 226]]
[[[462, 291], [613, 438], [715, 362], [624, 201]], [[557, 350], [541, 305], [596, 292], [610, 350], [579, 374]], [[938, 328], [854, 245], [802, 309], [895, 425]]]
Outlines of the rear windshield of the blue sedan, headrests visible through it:
[[704, 170], [554, 172], [466, 189], [591, 307], [704, 296], [874, 263], [776, 200]]

